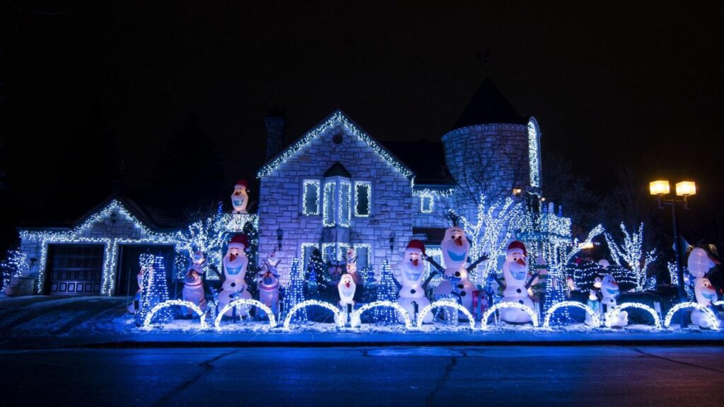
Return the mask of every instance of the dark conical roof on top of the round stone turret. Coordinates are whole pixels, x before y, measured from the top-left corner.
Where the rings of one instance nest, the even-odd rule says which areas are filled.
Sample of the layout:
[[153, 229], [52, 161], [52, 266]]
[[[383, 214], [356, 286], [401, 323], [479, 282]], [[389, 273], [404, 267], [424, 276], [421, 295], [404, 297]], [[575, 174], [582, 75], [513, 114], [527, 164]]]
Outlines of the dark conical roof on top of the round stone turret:
[[468, 106], [455, 123], [453, 130], [474, 125], [489, 125], [492, 123], [505, 123], [510, 125], [525, 125], [528, 120], [515, 111], [513, 105], [502, 95], [500, 89], [486, 78]]

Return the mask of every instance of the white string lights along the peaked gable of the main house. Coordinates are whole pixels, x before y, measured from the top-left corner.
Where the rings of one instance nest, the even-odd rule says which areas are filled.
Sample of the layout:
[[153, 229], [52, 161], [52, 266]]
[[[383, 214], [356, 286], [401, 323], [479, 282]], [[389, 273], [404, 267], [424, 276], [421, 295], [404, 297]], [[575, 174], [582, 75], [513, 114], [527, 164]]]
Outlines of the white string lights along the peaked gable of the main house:
[[316, 125], [312, 130], [309, 130], [305, 135], [295, 140], [294, 143], [291, 143], [290, 146], [287, 146], [287, 148], [283, 149], [281, 152], [279, 152], [279, 154], [277, 154], [272, 159], [267, 161], [266, 164], [261, 166], [261, 169], [259, 169], [259, 171], [256, 173], [256, 177], [261, 178], [265, 175], [269, 175], [269, 173], [279, 167], [279, 164], [282, 164], [282, 162], [290, 158], [290, 156], [293, 156], [297, 151], [306, 146], [306, 144], [309, 143], [311, 140], [321, 135], [322, 133], [325, 133], [327, 130], [336, 125], [342, 125], [343, 127], [345, 127], [345, 130], [347, 130], [350, 134], [353, 134], [361, 140], [364, 140], [367, 145], [370, 146], [374, 151], [376, 151], [377, 154], [382, 156], [385, 161], [390, 163], [392, 167], [395, 167], [395, 169], [397, 169], [400, 174], [408, 178], [415, 176], [414, 172], [405, 164], [403, 164], [402, 161], [397, 159], [397, 157], [395, 157], [392, 153], [390, 153], [390, 151], [387, 151], [387, 148], [384, 148], [380, 143], [377, 142], [377, 140], [372, 138], [371, 135], [367, 134], [364, 130], [362, 130], [361, 127], [353, 122], [352, 119], [350, 119], [344, 112], [342, 112], [340, 109], [337, 109], [332, 112], [332, 114], [329, 114], [326, 119], [319, 122], [319, 124]]

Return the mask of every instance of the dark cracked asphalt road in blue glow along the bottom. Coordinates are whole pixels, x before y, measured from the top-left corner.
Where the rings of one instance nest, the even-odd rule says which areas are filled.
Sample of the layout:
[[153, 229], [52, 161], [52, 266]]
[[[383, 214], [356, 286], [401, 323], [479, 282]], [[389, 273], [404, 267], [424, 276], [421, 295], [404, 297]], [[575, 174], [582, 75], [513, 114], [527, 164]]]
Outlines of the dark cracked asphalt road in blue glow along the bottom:
[[66, 349], [0, 366], [4, 406], [724, 404], [717, 346]]

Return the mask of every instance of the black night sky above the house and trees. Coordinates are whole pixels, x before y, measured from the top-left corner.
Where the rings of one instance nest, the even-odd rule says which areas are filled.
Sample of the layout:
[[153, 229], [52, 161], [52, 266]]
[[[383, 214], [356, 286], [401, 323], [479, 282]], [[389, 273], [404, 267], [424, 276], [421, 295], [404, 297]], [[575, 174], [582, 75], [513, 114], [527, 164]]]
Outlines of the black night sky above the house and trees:
[[485, 77], [598, 193], [626, 165], [642, 184], [691, 177], [699, 201], [722, 197], [721, 5], [206, 3], [4, 2], [6, 229], [87, 211], [118, 159], [130, 192], [192, 195], [154, 176], [190, 117], [228, 185], [204, 193], [225, 199], [263, 164], [270, 110], [287, 143], [336, 108], [379, 140], [437, 141]]

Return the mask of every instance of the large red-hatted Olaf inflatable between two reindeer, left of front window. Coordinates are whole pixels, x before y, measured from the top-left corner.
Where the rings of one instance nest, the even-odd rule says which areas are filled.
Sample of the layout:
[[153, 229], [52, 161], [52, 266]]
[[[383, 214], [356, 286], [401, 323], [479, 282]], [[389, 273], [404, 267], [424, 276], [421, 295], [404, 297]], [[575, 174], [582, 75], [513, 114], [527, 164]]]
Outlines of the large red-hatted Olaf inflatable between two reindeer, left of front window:
[[[224, 280], [222, 290], [219, 293], [219, 306], [224, 307], [236, 298], [251, 299], [251, 293], [246, 290], [246, 283], [244, 282], [246, 267], [249, 263], [249, 259], [246, 257], [244, 250], [248, 247], [249, 239], [246, 235], [235, 235], [231, 238], [226, 256], [224, 256], [224, 261], [222, 262], [224, 278], [226, 280]], [[243, 307], [240, 310], [240, 316], [246, 316], [247, 314], [248, 307]], [[232, 309], [224, 315], [232, 316]]]

